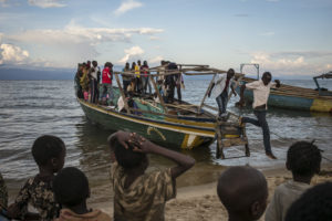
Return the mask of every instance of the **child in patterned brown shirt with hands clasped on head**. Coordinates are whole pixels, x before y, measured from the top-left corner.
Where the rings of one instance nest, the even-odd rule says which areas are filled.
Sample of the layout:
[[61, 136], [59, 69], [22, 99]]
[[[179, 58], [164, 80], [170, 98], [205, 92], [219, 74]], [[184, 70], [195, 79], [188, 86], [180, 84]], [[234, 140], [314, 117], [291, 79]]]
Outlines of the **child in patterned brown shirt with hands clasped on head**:
[[[157, 146], [135, 133], [110, 136], [111, 182], [114, 190], [114, 220], [165, 220], [165, 203], [176, 197], [176, 178], [195, 165], [195, 159]], [[176, 162], [175, 167], [146, 172], [147, 154]]]

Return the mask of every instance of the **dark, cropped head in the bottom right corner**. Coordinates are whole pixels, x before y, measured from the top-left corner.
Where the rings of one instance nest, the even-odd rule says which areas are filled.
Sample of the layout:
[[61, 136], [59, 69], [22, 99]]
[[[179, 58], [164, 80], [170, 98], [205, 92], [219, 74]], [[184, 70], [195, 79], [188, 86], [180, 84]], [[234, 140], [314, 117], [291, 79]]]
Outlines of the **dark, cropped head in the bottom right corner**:
[[292, 203], [286, 221], [331, 220], [332, 182], [320, 183], [307, 190]]

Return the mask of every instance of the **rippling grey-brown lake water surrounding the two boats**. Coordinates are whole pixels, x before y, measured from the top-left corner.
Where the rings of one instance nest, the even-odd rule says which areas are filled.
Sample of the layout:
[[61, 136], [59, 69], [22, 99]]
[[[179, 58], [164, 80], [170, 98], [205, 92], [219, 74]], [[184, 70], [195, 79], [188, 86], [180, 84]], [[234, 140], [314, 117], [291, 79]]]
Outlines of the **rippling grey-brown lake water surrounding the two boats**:
[[[282, 83], [314, 87], [312, 81], [283, 81]], [[208, 80], [186, 80], [184, 99], [199, 104]], [[323, 84], [332, 88], [332, 81]], [[250, 107], [235, 107], [238, 97], [231, 98], [228, 109], [243, 116], [255, 117]], [[207, 104], [216, 106], [214, 98]], [[262, 133], [247, 126], [250, 139], [250, 158], [216, 159], [216, 144], [208, 148], [178, 150], [193, 156], [196, 165], [178, 179], [178, 187], [196, 186], [217, 180], [227, 166], [250, 165], [260, 169], [284, 167], [288, 147], [300, 139], [315, 139], [332, 159], [332, 116], [308, 112], [270, 108], [267, 119], [271, 130], [271, 145], [278, 160], [264, 156]], [[111, 134], [92, 125], [84, 116], [74, 96], [73, 81], [0, 81], [0, 171], [6, 179], [12, 199], [27, 178], [38, 168], [31, 156], [34, 139], [44, 134], [61, 137], [66, 145], [65, 166], [81, 168], [89, 177], [94, 201], [107, 201], [112, 196], [108, 168], [110, 150], [106, 138]], [[227, 157], [243, 156], [243, 148], [226, 150]], [[331, 164], [323, 160], [323, 164]], [[151, 156], [153, 168], [173, 165], [167, 159]]]

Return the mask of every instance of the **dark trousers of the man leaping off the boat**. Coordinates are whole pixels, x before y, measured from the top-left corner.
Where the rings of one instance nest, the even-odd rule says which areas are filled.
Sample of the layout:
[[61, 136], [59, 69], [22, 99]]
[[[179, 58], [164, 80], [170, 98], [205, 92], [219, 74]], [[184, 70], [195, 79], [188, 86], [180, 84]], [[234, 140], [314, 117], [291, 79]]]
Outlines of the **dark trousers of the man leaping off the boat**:
[[250, 124], [253, 124], [253, 125], [262, 128], [266, 152], [270, 154], [270, 152], [272, 152], [272, 150], [271, 150], [271, 144], [270, 144], [270, 129], [269, 129], [269, 125], [268, 125], [268, 122], [266, 118], [267, 110], [266, 109], [260, 109], [260, 110], [255, 109], [253, 114], [256, 115], [257, 119], [243, 117], [242, 123], [250, 123]]

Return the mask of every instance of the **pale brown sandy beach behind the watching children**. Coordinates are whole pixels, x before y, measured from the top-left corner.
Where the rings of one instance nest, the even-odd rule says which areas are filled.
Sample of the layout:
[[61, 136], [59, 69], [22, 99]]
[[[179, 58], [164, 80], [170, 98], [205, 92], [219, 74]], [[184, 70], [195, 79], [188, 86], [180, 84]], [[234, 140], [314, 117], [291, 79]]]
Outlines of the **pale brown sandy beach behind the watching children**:
[[[269, 188], [269, 198], [273, 196], [274, 189], [282, 182], [292, 178], [286, 169], [263, 171]], [[313, 177], [311, 185], [332, 181], [332, 166], [324, 166], [320, 175]], [[220, 221], [227, 220], [227, 211], [220, 203], [217, 192], [217, 182], [207, 185], [183, 187], [177, 189], [177, 197], [166, 203], [166, 221]], [[92, 208], [98, 208], [113, 214], [113, 202], [91, 202]], [[263, 217], [260, 219], [263, 220]]]

